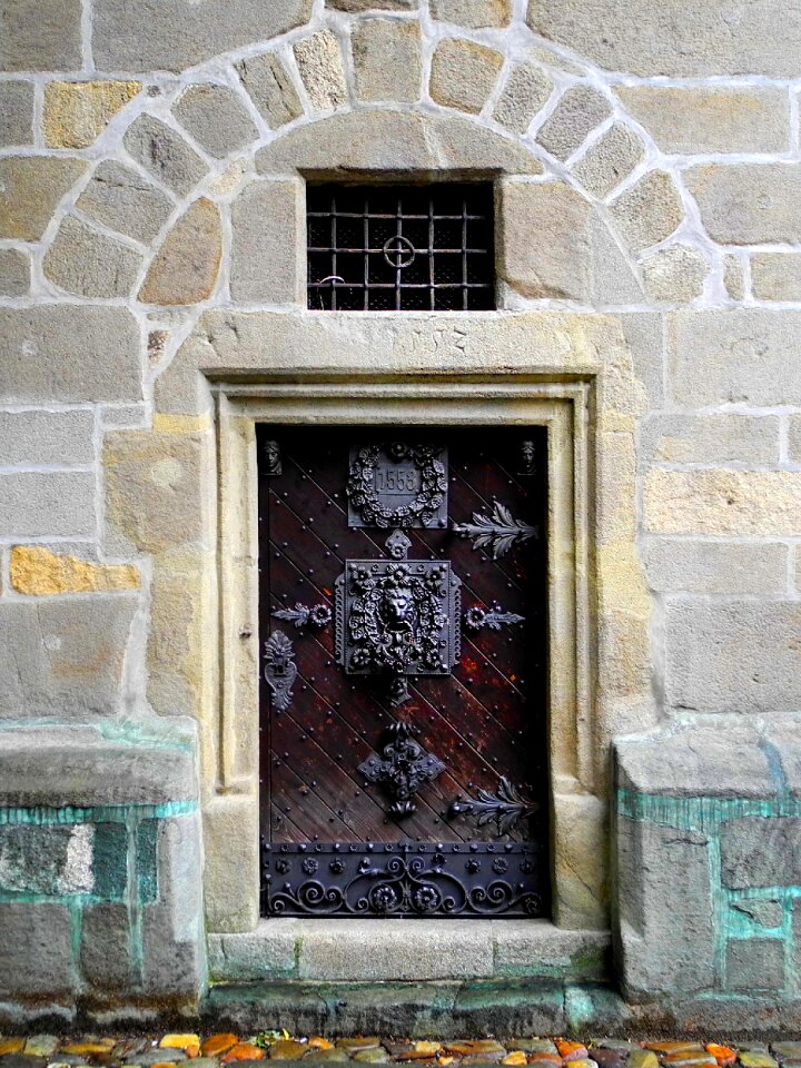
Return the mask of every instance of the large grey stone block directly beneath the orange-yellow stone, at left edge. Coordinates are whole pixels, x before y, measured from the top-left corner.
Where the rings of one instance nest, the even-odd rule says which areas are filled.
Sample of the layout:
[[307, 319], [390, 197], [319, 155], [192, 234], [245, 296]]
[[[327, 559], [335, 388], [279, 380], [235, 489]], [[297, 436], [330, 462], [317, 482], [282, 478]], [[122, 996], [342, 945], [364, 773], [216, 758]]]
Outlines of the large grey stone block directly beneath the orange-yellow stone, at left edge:
[[113, 715], [137, 605], [100, 594], [4, 603], [0, 634], [16, 654], [0, 664], [0, 716]]

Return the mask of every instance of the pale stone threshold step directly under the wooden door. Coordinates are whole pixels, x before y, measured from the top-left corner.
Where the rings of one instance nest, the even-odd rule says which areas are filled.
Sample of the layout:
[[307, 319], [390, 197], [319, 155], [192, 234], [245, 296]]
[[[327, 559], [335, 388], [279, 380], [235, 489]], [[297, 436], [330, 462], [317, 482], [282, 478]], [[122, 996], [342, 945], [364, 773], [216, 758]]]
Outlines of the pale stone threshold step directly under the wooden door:
[[209, 936], [214, 982], [604, 981], [609, 931], [545, 919], [265, 919], [255, 931]]

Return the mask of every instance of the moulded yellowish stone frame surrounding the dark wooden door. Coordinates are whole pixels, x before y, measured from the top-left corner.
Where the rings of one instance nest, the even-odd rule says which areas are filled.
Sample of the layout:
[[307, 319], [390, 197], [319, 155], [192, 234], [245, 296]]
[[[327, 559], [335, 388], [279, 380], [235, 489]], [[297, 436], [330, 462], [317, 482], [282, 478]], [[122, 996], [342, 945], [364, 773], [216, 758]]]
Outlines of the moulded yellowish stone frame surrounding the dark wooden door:
[[[593, 619], [589, 585], [591, 561], [590, 411], [592, 378], [543, 382], [517, 376], [461, 379], [363, 380], [305, 378], [253, 383], [212, 383], [216, 400], [218, 501], [217, 599], [220, 621], [219, 724], [215, 732], [216, 785], [207, 798], [207, 900], [210, 929], [253, 929], [258, 920], [258, 537], [256, 424], [545, 426], [548, 433], [548, 709], [552, 900], [562, 927], [607, 923], [574, 914], [572, 873], [565, 866], [571, 827], [604, 841], [604, 805], [593, 792], [594, 741]], [[224, 832], [243, 827], [253, 842], [236, 873], [224, 858]], [[603, 853], [601, 846], [600, 853]], [[593, 863], [603, 863], [596, 854]], [[228, 876], [228, 879], [226, 879]], [[226, 914], [214, 900], [226, 881]], [[276, 921], [266, 921], [267, 923]], [[418, 921], [422, 923], [428, 921]]]

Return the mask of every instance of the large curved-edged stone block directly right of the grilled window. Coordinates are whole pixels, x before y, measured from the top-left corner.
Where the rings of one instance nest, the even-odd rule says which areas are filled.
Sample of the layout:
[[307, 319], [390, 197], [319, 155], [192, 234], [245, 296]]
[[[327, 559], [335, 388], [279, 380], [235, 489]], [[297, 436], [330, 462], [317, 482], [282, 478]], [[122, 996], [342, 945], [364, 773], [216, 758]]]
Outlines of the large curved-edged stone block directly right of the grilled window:
[[498, 221], [498, 275], [523, 296], [585, 304], [642, 298], [603, 219], [564, 182], [502, 182]]

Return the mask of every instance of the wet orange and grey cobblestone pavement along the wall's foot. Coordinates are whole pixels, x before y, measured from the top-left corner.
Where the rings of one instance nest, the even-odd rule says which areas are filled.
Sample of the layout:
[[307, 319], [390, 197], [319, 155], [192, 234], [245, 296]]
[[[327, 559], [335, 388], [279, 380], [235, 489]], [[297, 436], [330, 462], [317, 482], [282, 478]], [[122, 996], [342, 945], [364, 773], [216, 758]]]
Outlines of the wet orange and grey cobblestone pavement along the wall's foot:
[[[473, 1065], [538, 1065], [542, 1068], [801, 1068], [800, 1041], [724, 1046], [700, 1041], [643, 1041], [593, 1038], [518, 1038], [496, 1041], [409, 1041], [363, 1038], [293, 1037], [286, 1031], [243, 1036], [217, 1034], [120, 1038], [82, 1036], [29, 1038], [0, 1036], [0, 1068], [191, 1068], [235, 1065], [247, 1068], [268, 1059], [278, 1068], [290, 1061], [333, 1065], [411, 1064], [415, 1068]], [[189, 1068], [189, 1066], [187, 1066]]]

